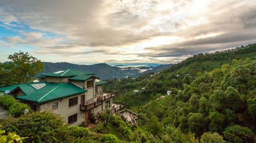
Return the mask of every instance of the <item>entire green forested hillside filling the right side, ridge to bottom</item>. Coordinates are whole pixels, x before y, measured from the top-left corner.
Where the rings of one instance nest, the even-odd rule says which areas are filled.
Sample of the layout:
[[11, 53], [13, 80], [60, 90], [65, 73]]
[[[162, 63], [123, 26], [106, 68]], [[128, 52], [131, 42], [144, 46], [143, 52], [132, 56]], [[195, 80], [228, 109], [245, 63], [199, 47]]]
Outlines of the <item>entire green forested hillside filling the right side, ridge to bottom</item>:
[[[250, 44], [235, 50], [199, 54], [153, 77], [147, 74], [135, 80], [107, 82], [121, 94], [117, 100], [126, 102], [140, 115], [139, 127], [151, 132], [154, 142], [166, 143], [166, 126], [172, 126], [174, 131], [181, 131], [178, 143], [185, 143], [192, 133], [201, 140], [205, 136], [219, 139], [218, 143], [254, 143], [255, 51], [256, 44]], [[132, 93], [142, 87], [144, 91]], [[167, 90], [171, 91], [169, 96]]]

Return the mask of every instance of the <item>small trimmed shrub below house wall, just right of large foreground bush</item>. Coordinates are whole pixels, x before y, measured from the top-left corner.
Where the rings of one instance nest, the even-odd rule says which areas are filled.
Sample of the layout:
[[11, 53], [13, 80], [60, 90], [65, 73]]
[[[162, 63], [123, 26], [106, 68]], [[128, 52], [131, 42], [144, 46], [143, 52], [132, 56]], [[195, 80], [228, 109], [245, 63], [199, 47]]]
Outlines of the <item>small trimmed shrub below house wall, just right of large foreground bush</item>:
[[71, 126], [71, 127], [69, 127], [69, 130], [70, 130], [70, 136], [75, 136], [75, 137], [90, 136], [90, 129], [89, 128]]

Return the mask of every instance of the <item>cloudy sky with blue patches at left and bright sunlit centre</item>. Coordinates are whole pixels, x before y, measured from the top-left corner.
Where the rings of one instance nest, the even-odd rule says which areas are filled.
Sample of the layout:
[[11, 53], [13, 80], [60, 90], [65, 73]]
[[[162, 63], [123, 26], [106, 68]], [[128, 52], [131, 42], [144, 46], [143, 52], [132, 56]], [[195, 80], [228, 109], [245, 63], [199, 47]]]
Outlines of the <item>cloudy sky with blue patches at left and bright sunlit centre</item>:
[[0, 62], [159, 63], [256, 43], [256, 0], [0, 0]]

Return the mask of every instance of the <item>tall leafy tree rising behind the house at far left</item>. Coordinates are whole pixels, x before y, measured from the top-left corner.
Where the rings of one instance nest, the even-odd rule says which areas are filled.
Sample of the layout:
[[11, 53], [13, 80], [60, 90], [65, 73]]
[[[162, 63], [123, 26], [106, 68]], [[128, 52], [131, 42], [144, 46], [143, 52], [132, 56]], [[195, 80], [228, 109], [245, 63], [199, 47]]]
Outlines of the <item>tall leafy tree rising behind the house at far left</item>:
[[8, 59], [11, 60], [11, 64], [15, 64], [11, 68], [11, 72], [17, 75], [16, 82], [30, 82], [33, 77], [37, 76], [40, 71], [44, 71], [43, 69], [45, 68], [44, 63], [40, 60], [22, 51], [9, 55]]

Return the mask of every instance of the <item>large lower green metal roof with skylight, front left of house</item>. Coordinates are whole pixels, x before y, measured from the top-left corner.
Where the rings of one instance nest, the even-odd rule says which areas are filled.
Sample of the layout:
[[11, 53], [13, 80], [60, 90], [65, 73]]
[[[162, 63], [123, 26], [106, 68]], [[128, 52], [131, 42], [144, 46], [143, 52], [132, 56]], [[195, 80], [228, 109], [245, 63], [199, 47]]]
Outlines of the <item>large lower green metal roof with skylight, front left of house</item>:
[[75, 94], [87, 92], [86, 89], [82, 89], [74, 84], [68, 83], [54, 83], [45, 82], [46, 86], [41, 89], [35, 90], [31, 86], [20, 87], [26, 95], [16, 97], [18, 99], [30, 100], [37, 102], [38, 104], [49, 102], [64, 97], [69, 97]]

